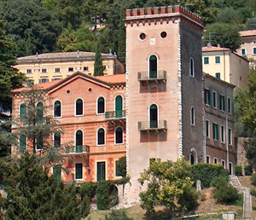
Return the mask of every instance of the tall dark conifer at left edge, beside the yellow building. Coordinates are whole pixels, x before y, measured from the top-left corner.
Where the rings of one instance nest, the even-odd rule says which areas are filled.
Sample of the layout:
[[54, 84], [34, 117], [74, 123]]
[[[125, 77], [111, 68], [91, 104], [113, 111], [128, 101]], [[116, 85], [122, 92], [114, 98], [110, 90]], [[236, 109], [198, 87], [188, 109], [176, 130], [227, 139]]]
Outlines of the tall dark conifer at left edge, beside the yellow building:
[[14, 68], [15, 44], [11, 43], [3, 29], [3, 20], [0, 20], [0, 113], [10, 110], [10, 91], [21, 87], [25, 80], [25, 75]]

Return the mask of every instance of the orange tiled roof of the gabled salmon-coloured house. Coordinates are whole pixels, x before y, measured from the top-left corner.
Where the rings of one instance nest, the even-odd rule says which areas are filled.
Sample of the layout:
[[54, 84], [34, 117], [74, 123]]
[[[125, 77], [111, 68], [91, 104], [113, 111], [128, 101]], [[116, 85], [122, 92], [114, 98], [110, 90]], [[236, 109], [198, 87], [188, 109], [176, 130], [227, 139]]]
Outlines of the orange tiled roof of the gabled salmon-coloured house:
[[[44, 84], [36, 84], [34, 85], [34, 88], [36, 90], [52, 90], [55, 87], [66, 83], [71, 78], [75, 78], [78, 75], [80, 75], [83, 78], [89, 78], [90, 80], [96, 81], [98, 83], [102, 84], [108, 84], [108, 85], [116, 85], [116, 84], [125, 84], [125, 74], [116, 74], [111, 76], [99, 76], [99, 77], [93, 77], [88, 74], [85, 74], [83, 72], [75, 72], [71, 76], [64, 78], [64, 79], [58, 79], [55, 81], [47, 82]], [[20, 93], [22, 91], [31, 90], [31, 87], [23, 87], [20, 89], [12, 90], [12, 93]]]

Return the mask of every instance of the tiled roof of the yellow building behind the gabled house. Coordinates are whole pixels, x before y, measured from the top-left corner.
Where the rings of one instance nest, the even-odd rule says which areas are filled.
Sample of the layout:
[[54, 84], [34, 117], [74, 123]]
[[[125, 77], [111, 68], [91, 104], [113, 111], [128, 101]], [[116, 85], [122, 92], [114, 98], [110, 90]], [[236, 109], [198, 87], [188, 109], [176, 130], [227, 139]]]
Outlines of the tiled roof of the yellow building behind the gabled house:
[[[61, 53], [46, 53], [41, 55], [28, 55], [22, 56], [17, 59], [17, 62], [25, 62], [25, 61], [62, 61], [62, 60], [84, 60], [84, 59], [94, 59], [94, 52], [61, 52]], [[102, 54], [102, 58], [116, 58], [115, 55], [112, 54]]]

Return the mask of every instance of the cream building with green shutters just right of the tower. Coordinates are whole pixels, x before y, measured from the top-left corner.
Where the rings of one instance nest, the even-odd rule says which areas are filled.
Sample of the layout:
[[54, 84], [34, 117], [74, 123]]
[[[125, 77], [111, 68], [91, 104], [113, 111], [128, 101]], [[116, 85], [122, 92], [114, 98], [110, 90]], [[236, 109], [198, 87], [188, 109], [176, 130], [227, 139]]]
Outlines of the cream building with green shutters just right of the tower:
[[241, 87], [247, 84], [249, 61], [230, 49], [220, 47], [202, 48], [203, 72], [227, 83]]

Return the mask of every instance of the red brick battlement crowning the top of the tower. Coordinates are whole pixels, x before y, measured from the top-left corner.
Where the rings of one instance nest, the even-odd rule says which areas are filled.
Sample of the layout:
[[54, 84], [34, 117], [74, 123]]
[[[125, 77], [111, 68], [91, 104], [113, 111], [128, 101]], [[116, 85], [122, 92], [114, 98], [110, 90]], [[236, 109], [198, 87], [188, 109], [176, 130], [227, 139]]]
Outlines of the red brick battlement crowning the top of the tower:
[[147, 18], [158, 18], [163, 16], [176, 16], [183, 15], [189, 20], [193, 20], [196, 23], [202, 25], [201, 17], [195, 13], [184, 9], [182, 6], [162, 6], [154, 8], [143, 8], [143, 9], [126, 9], [126, 20], [139, 20]]

